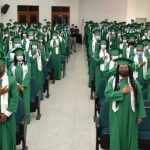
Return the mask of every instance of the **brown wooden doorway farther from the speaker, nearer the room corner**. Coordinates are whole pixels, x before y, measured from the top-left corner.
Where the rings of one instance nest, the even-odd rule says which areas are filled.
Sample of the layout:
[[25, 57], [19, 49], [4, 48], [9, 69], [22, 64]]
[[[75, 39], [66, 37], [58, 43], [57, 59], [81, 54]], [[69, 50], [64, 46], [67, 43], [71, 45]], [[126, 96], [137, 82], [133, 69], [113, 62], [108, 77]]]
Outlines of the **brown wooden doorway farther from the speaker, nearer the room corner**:
[[52, 26], [55, 24], [70, 24], [70, 7], [52, 6]]

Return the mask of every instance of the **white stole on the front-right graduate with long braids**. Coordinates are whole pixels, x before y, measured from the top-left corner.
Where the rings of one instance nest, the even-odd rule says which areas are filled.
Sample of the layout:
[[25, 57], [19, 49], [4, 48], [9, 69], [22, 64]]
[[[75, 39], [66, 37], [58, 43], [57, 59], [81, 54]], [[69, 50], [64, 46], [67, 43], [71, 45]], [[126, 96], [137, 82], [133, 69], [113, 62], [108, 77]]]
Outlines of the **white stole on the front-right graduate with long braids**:
[[[122, 77], [119, 76], [119, 82], [120, 82], [121, 79], [122, 79]], [[113, 85], [112, 85], [113, 90], [115, 89], [115, 82], [116, 82], [116, 78], [114, 78], [114, 80], [113, 80]], [[128, 83], [129, 83], [129, 87], [131, 87], [131, 83], [130, 83], [129, 78], [128, 78]], [[132, 109], [133, 112], [135, 112], [135, 95], [134, 95], [134, 91], [131, 91], [130, 95], [131, 95], [131, 109]], [[112, 110], [114, 112], [117, 112], [119, 110], [119, 105], [117, 106], [117, 101], [113, 101]]]

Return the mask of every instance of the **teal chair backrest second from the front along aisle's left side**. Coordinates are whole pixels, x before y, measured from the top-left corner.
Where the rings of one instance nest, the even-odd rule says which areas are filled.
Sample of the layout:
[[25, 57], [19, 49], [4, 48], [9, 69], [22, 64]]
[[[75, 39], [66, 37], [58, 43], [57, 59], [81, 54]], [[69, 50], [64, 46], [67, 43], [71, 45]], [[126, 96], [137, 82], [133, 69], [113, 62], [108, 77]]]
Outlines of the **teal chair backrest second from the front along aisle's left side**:
[[38, 93], [38, 87], [37, 87], [37, 82], [36, 79], [31, 77], [30, 79], [30, 86], [31, 86], [31, 91], [30, 91], [30, 101], [34, 102]]

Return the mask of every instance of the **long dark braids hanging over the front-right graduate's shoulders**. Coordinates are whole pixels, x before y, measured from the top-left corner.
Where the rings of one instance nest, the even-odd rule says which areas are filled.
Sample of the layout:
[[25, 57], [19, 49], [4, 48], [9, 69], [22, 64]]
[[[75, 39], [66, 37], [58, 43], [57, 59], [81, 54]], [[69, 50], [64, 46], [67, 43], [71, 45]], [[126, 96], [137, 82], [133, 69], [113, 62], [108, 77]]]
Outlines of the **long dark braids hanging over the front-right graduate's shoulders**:
[[[137, 100], [137, 88], [136, 88], [135, 80], [133, 78], [133, 71], [131, 70], [130, 66], [128, 66], [128, 67], [129, 67], [129, 80], [130, 80], [131, 86], [132, 86], [133, 91], [134, 91], [135, 104], [136, 104], [136, 100]], [[117, 67], [117, 73], [116, 73], [116, 81], [115, 81], [115, 89], [114, 89], [114, 91], [117, 91], [118, 88], [119, 88], [119, 65]]]

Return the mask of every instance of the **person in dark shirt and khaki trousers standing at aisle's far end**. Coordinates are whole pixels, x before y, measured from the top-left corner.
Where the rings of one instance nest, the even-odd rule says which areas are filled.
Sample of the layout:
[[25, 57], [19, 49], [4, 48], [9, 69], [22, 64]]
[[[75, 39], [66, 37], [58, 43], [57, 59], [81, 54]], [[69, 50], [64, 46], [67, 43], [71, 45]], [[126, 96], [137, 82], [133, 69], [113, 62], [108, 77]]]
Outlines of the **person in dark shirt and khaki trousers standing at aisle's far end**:
[[76, 52], [77, 30], [75, 29], [74, 24], [72, 24], [70, 31], [71, 31], [71, 49], [74, 49], [74, 52]]

